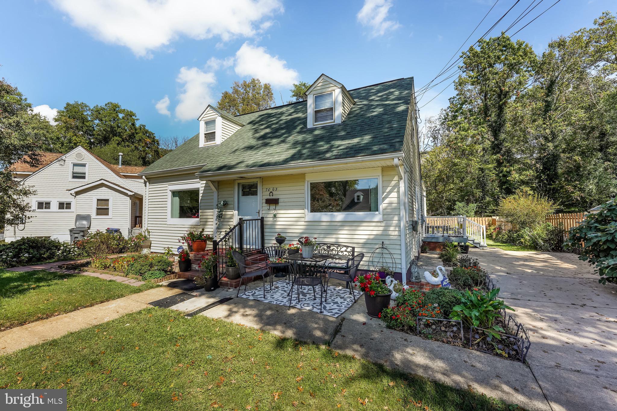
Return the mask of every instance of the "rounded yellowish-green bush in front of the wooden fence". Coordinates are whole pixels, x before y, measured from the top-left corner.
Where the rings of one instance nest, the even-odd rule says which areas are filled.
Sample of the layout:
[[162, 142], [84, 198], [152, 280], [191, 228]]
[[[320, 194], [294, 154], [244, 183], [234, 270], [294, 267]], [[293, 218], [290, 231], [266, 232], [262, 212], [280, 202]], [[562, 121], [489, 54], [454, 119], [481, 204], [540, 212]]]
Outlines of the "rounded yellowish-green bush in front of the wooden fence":
[[497, 215], [522, 230], [544, 223], [547, 214], [555, 212], [555, 204], [537, 194], [518, 193], [503, 198], [497, 207]]

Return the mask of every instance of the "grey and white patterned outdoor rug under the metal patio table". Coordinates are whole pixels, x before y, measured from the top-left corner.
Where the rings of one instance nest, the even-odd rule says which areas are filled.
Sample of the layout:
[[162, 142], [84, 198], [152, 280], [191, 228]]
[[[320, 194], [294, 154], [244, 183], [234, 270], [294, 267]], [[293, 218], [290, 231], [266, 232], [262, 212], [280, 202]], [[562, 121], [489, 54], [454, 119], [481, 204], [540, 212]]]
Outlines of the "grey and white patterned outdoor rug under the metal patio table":
[[[240, 290], [240, 296], [242, 298], [256, 299], [263, 301], [264, 303], [278, 304], [280, 306], [289, 306], [289, 287], [291, 285], [285, 281], [277, 281], [274, 283], [272, 290], [270, 291], [270, 284], [266, 286], [266, 296], [263, 298], [263, 287], [255, 288], [254, 290], [246, 290], [242, 293]], [[297, 287], [294, 288], [294, 297], [291, 301], [291, 306], [303, 310], [310, 310], [319, 312], [319, 289], [315, 287], [315, 295], [317, 299], [313, 299], [312, 287], [300, 287], [300, 303], [297, 298]], [[362, 291], [354, 290], [355, 298], [358, 299], [362, 296]], [[325, 294], [324, 294], [325, 296]], [[328, 287], [328, 301], [323, 303], [323, 313], [330, 317], [338, 317], [342, 313], [346, 312], [349, 307], [354, 304], [354, 298], [349, 293], [347, 288]]]

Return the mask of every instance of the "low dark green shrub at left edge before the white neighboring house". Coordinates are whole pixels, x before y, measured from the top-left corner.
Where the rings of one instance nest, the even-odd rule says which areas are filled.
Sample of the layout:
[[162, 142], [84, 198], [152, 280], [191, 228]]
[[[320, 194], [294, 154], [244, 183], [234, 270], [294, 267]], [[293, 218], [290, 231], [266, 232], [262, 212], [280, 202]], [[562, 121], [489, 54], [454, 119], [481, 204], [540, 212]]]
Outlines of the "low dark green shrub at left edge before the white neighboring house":
[[0, 266], [19, 267], [41, 262], [62, 261], [82, 256], [68, 243], [43, 237], [23, 237], [0, 244]]

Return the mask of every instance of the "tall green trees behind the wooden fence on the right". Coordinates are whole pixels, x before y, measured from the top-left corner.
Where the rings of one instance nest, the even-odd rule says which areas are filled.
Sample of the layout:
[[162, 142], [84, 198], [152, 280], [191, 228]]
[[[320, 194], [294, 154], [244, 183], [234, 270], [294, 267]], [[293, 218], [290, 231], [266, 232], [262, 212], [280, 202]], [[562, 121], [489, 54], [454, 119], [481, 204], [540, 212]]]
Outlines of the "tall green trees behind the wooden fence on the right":
[[617, 195], [617, 20], [549, 43], [537, 55], [508, 36], [463, 56], [450, 104], [426, 127], [429, 213], [537, 193], [558, 211], [588, 210]]

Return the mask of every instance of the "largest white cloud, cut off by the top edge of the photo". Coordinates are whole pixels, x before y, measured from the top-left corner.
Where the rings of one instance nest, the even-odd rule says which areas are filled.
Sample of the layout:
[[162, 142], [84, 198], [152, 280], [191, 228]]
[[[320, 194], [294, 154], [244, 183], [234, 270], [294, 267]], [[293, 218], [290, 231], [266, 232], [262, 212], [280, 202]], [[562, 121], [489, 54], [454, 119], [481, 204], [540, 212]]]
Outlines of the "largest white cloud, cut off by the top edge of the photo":
[[[49, 0], [73, 25], [106, 43], [126, 46], [140, 57], [176, 38], [222, 41], [252, 37], [283, 12], [280, 0]], [[260, 28], [255, 28], [255, 25]]]

